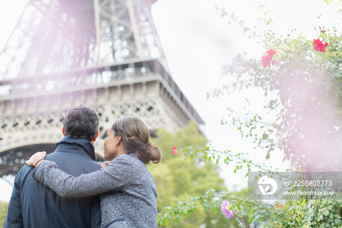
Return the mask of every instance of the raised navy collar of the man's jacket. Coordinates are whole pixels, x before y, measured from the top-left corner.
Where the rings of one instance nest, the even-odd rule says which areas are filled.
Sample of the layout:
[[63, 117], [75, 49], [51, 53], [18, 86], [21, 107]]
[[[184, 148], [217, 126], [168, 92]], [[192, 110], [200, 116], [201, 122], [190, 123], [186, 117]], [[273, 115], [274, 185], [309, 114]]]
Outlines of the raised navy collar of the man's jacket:
[[74, 152], [75, 149], [81, 153], [85, 151], [85, 153], [89, 155], [92, 160], [97, 160], [93, 144], [91, 144], [91, 142], [85, 138], [72, 138], [66, 135], [57, 142], [56, 148], [60, 149], [61, 147], [65, 146], [70, 147], [70, 151], [68, 152]]

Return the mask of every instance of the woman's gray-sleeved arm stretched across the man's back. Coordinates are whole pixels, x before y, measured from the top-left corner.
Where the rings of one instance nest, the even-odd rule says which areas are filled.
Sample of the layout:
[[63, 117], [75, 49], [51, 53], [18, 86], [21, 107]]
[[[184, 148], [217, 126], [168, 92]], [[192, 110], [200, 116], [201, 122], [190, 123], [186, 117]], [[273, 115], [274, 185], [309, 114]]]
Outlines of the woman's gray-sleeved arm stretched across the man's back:
[[98, 195], [125, 186], [131, 180], [134, 167], [127, 157], [119, 156], [106, 168], [79, 177], [60, 170], [55, 162], [44, 160], [33, 177], [64, 198]]

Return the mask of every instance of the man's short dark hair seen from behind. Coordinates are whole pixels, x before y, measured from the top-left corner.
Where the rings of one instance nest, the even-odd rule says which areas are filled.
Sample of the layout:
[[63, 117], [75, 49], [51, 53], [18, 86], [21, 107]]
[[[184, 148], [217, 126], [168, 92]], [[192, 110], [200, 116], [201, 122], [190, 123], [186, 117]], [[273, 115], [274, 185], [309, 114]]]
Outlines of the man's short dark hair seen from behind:
[[91, 141], [99, 130], [100, 117], [93, 108], [85, 105], [72, 107], [65, 111], [63, 127], [65, 135], [72, 138], [85, 138]]

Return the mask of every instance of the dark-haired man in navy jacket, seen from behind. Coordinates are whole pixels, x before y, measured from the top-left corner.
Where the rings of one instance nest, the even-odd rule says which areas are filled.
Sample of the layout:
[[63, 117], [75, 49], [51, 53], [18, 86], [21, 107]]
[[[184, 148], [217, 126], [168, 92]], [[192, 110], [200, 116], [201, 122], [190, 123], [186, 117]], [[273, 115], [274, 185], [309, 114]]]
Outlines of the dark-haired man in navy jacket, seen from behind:
[[[64, 138], [45, 157], [61, 170], [80, 176], [99, 170], [93, 143], [98, 137], [100, 117], [90, 107], [80, 105], [65, 112]], [[99, 196], [66, 199], [34, 180], [32, 166], [17, 174], [8, 205], [4, 228], [100, 228]]]

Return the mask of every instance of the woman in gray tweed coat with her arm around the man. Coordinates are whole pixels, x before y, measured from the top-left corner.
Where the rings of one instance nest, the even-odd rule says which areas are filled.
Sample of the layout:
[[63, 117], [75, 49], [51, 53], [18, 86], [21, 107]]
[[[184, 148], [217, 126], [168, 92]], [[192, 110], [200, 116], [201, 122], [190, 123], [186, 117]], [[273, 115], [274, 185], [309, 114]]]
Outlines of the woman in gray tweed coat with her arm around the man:
[[37, 181], [58, 195], [77, 198], [101, 194], [102, 228], [157, 227], [157, 191], [146, 164], [158, 163], [161, 152], [153, 146], [143, 121], [134, 116], [118, 118], [107, 131], [105, 160], [99, 171], [73, 177], [61, 171], [43, 152], [26, 163], [36, 168]]

